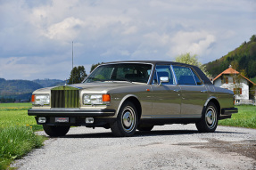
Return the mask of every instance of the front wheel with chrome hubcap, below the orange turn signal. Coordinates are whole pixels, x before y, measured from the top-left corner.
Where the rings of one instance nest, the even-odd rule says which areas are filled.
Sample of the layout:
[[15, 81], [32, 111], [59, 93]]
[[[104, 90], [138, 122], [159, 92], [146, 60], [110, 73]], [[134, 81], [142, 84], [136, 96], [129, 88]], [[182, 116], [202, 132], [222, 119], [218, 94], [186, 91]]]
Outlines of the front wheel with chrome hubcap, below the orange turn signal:
[[117, 137], [130, 137], [135, 134], [137, 123], [136, 107], [127, 101], [121, 106], [116, 121], [111, 124], [111, 132]]

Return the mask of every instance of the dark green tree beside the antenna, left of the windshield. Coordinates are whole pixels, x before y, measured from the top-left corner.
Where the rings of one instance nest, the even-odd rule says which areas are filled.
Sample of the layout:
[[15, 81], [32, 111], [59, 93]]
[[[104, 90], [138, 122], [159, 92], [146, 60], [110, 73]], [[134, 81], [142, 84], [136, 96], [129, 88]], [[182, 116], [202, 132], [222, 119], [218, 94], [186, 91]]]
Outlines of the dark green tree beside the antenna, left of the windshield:
[[84, 66], [74, 67], [70, 72], [69, 85], [81, 83], [87, 77]]

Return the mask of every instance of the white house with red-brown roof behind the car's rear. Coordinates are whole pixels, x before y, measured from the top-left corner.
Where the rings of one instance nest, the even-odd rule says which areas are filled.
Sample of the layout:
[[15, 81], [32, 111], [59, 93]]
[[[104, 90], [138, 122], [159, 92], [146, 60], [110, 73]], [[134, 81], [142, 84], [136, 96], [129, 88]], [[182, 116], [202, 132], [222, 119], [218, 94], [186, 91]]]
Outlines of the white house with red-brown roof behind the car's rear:
[[212, 83], [213, 85], [233, 91], [236, 104], [255, 103], [256, 84], [235, 69], [232, 69], [231, 65], [215, 77]]

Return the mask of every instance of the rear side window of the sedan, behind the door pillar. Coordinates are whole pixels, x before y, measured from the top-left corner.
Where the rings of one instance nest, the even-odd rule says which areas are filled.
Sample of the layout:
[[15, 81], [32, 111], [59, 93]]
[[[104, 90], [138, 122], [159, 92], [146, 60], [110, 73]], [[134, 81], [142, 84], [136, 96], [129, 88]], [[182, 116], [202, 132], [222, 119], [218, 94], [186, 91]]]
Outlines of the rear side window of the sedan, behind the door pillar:
[[173, 66], [178, 85], [196, 85], [191, 69], [181, 66]]

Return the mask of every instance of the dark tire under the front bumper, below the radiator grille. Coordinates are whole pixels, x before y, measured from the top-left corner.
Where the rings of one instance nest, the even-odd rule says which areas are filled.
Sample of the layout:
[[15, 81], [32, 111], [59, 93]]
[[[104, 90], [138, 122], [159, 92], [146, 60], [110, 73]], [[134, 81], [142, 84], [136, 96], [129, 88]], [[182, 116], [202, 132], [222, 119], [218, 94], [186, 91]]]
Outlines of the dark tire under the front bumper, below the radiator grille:
[[69, 125], [43, 125], [44, 131], [51, 137], [64, 136], [70, 130]]

